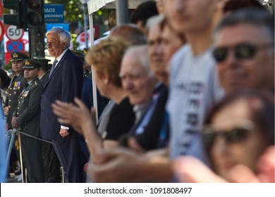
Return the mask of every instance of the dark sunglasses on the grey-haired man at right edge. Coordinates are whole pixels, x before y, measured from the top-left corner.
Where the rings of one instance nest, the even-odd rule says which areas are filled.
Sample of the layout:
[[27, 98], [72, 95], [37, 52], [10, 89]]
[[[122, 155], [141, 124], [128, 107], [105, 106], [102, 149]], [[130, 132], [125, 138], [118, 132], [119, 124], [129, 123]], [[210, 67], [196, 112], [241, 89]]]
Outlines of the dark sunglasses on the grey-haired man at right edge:
[[221, 46], [217, 47], [213, 51], [213, 56], [217, 63], [221, 63], [226, 60], [228, 51], [233, 49], [235, 58], [238, 60], [247, 60], [253, 58], [259, 49], [267, 49], [270, 46], [274, 46], [274, 44], [262, 44], [262, 45], [254, 45], [249, 43], [240, 43], [236, 46], [226, 47]]

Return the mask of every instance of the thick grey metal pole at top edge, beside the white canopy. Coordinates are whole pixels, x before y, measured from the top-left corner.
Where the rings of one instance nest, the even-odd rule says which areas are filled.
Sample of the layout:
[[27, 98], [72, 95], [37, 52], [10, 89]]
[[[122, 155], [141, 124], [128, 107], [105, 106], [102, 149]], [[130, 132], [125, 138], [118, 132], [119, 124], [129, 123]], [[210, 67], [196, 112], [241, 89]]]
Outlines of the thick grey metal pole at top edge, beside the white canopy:
[[116, 25], [128, 23], [128, 0], [116, 0]]

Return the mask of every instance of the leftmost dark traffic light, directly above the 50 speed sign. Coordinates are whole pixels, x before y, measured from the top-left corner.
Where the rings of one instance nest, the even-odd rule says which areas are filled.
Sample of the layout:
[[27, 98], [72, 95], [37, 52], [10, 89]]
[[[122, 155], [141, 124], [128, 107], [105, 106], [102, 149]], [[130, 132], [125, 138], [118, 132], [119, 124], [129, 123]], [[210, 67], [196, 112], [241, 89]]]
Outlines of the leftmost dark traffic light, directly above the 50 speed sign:
[[3, 4], [4, 8], [16, 11], [16, 13], [13, 14], [4, 14], [4, 23], [25, 29], [24, 16], [27, 8], [23, 6], [23, 0], [3, 0]]

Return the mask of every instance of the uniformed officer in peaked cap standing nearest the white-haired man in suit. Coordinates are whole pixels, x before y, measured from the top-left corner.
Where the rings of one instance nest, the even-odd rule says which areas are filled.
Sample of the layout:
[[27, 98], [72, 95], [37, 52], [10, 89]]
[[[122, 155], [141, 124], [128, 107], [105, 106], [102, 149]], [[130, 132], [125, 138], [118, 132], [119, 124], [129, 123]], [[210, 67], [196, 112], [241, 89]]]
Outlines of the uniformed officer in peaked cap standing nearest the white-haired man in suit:
[[[43, 85], [38, 79], [39, 64], [32, 59], [23, 61], [24, 77], [27, 80], [18, 98], [18, 106], [13, 113], [12, 126], [23, 132], [21, 134], [21, 148], [23, 166], [27, 169], [28, 182], [44, 182], [44, 166], [42, 160], [40, 138], [40, 101]], [[25, 135], [27, 134], [27, 135]]]

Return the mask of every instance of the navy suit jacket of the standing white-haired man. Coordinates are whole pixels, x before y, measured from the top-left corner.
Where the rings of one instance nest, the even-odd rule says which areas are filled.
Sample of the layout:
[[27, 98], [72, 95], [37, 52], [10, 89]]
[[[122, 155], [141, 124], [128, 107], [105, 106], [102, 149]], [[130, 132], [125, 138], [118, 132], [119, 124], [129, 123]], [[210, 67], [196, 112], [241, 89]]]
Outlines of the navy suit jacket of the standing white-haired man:
[[[80, 59], [70, 49], [66, 51], [47, 80], [41, 98], [40, 129], [43, 139], [62, 139], [59, 134], [61, 124], [52, 112], [51, 104], [56, 100], [73, 102], [75, 96], [80, 98], [83, 68]], [[67, 126], [68, 125], [64, 125]], [[69, 137], [76, 136], [70, 127]]]

